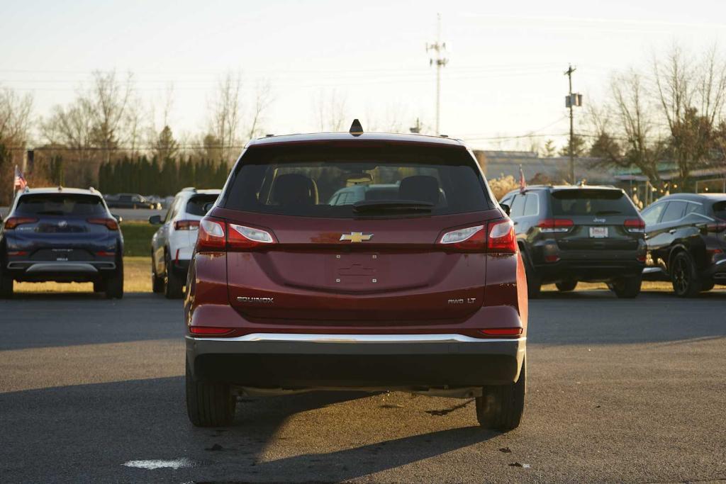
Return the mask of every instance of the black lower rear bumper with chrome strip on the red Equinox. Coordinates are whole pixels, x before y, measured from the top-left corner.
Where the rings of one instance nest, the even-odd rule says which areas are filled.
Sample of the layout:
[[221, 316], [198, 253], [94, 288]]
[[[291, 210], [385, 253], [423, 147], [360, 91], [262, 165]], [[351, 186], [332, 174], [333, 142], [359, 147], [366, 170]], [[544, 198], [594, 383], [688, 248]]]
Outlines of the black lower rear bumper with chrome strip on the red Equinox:
[[189, 368], [200, 380], [249, 387], [430, 388], [515, 382], [526, 338], [462, 335], [187, 336]]

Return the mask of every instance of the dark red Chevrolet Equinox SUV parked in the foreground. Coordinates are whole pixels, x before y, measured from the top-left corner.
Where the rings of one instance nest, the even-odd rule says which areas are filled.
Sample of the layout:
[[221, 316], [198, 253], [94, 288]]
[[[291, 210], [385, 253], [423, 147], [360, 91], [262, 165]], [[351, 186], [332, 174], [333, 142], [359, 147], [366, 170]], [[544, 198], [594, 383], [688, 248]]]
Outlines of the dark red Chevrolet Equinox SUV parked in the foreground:
[[200, 222], [184, 304], [187, 409], [356, 388], [476, 397], [517, 427], [526, 281], [512, 222], [472, 153], [393, 134], [250, 142]]

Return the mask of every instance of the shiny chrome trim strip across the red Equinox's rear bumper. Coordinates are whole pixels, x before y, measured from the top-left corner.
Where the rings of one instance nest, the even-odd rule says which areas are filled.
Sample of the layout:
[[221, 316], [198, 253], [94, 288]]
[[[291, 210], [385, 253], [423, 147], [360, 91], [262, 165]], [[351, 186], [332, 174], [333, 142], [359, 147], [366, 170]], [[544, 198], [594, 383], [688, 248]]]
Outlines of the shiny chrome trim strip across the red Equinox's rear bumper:
[[263, 341], [278, 343], [520, 343], [518, 338], [475, 338], [465, 335], [322, 335], [303, 333], [251, 333], [233, 338], [205, 338], [187, 336], [198, 341]]

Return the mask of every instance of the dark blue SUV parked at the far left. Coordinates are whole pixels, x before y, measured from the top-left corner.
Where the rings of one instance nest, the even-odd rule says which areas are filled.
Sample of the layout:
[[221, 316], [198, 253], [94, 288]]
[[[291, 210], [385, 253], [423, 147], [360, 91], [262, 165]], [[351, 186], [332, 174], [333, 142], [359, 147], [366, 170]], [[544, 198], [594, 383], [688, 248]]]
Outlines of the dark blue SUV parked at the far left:
[[13, 282], [93, 282], [123, 297], [123, 236], [94, 189], [25, 189], [0, 225], [0, 298]]

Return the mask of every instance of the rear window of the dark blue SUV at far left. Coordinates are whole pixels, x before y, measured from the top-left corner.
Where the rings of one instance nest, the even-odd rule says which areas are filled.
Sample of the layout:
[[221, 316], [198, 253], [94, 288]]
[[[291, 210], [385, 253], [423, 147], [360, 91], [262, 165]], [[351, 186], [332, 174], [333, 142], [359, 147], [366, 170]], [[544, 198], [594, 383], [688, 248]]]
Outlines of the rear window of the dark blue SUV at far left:
[[27, 216], [106, 216], [101, 197], [82, 194], [28, 194], [20, 197], [15, 209]]

